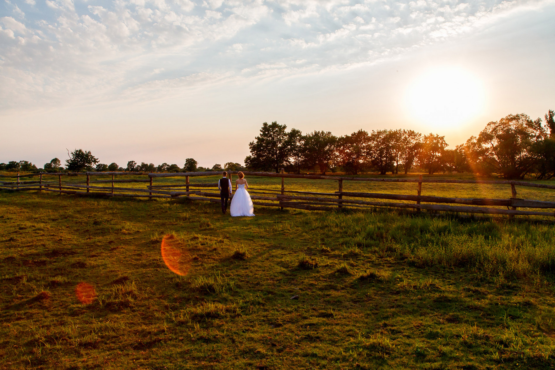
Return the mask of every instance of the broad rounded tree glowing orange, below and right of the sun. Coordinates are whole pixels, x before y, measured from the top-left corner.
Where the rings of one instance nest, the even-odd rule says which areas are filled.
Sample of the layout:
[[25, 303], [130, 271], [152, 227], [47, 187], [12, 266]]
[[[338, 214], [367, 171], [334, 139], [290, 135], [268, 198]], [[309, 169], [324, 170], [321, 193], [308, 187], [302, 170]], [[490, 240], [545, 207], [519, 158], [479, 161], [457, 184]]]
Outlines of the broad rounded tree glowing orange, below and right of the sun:
[[[506, 179], [523, 179], [531, 173], [540, 159], [536, 146], [546, 139], [542, 119], [532, 120], [526, 114], [509, 114], [490, 122], [472, 141], [482, 167]], [[472, 138], [471, 138], [472, 139]]]

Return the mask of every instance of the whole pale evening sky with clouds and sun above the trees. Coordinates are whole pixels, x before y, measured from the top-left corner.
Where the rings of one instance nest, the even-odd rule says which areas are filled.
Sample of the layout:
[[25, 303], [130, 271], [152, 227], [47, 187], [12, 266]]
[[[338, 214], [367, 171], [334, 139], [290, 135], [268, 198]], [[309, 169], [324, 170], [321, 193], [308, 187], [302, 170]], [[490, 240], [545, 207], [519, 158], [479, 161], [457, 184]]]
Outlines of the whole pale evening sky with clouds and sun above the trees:
[[555, 109], [555, 0], [0, 2], [4, 163], [243, 163], [271, 121], [454, 147]]

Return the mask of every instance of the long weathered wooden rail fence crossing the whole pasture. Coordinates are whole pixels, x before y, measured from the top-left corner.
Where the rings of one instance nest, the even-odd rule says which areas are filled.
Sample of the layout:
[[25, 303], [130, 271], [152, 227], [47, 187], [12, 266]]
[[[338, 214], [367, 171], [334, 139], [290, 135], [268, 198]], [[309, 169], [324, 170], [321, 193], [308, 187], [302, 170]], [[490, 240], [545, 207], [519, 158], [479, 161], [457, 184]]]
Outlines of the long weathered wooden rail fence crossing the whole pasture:
[[[233, 178], [237, 171], [228, 171]], [[457, 213], [477, 213], [495, 215], [536, 215], [555, 217], [555, 202], [531, 199], [519, 199], [516, 186], [555, 189], [554, 185], [530, 183], [527, 181], [511, 180], [448, 180], [448, 179], [388, 179], [388, 178], [359, 178], [352, 176], [319, 176], [295, 175], [281, 173], [249, 172], [246, 176], [263, 176], [281, 179], [281, 189], [264, 189], [249, 187], [253, 203], [260, 206], [295, 208], [304, 210], [329, 211], [344, 207], [375, 208], [393, 207], [421, 210], [446, 211]], [[115, 179], [115, 176], [141, 175], [144, 179]], [[221, 172], [193, 172], [193, 173], [139, 173], [139, 172], [87, 172], [87, 173], [35, 173], [17, 176], [0, 175], [0, 189], [11, 191], [52, 191], [61, 194], [75, 194], [85, 196], [123, 196], [176, 199], [186, 197], [189, 200], [220, 202], [218, 183], [190, 183], [195, 176], [221, 175]], [[86, 181], [62, 181], [72, 176], [86, 176]], [[91, 180], [92, 176], [112, 176], [112, 179]], [[38, 177], [38, 179], [36, 179]], [[185, 183], [155, 184], [154, 180], [162, 178], [185, 177]], [[2, 178], [12, 178], [5, 181]], [[285, 190], [285, 179], [335, 180], [335, 192], [311, 192]], [[22, 179], [29, 179], [22, 181]], [[54, 181], [53, 181], [54, 180]], [[158, 180], [158, 181], [159, 181]], [[377, 192], [349, 192], [343, 190], [344, 181], [372, 181], [382, 183], [415, 183], [416, 194], [382, 194]], [[148, 183], [145, 187], [120, 187], [120, 183]], [[506, 184], [511, 187], [511, 197], [508, 199], [493, 198], [460, 198], [421, 195], [423, 183], [442, 184]], [[98, 184], [98, 185], [91, 185]], [[102, 186], [104, 184], [104, 186]], [[106, 186], [108, 185], [108, 186]], [[147, 194], [148, 193], [148, 194]], [[368, 200], [372, 199], [372, 200]], [[396, 202], [376, 201], [393, 200]], [[401, 202], [400, 202], [401, 201]], [[461, 206], [462, 205], [462, 206]], [[502, 208], [506, 207], [506, 209]], [[521, 208], [521, 209], [518, 209]], [[522, 210], [522, 208], [526, 210]], [[543, 211], [529, 210], [543, 209]], [[545, 211], [552, 209], [552, 211]]]

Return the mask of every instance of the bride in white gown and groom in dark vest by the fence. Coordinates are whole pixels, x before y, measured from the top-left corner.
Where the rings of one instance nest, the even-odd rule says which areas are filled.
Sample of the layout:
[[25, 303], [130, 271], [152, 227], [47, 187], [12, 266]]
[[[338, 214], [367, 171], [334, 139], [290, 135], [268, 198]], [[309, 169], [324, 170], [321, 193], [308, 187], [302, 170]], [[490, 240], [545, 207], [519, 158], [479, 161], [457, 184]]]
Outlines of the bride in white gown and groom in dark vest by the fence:
[[231, 180], [228, 179], [228, 173], [224, 171], [223, 178], [218, 181], [218, 190], [220, 190], [221, 212], [225, 214], [228, 209], [228, 200], [231, 197], [231, 205], [229, 212], [231, 216], [254, 216], [253, 201], [250, 199], [249, 184], [246, 183], [245, 174], [239, 172], [239, 179], [235, 180], [235, 195], [231, 189]]

